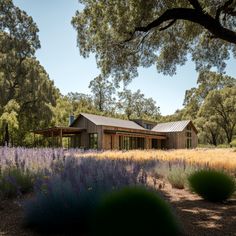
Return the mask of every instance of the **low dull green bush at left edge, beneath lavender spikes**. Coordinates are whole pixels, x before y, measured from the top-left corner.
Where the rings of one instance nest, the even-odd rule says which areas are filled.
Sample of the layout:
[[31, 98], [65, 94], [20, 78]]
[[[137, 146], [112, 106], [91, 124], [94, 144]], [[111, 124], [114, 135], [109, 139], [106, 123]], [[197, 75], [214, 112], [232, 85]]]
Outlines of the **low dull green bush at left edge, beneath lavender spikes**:
[[0, 175], [0, 195], [3, 198], [16, 197], [33, 190], [34, 175], [16, 167], [4, 169]]

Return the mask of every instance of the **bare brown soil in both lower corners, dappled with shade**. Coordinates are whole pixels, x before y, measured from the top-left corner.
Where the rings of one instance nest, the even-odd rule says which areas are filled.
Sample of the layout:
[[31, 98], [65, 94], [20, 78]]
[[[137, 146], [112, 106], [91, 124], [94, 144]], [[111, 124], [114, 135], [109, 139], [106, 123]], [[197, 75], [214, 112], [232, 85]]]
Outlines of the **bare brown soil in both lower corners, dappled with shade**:
[[[185, 235], [236, 236], [236, 199], [210, 203], [187, 190], [173, 189], [169, 183], [158, 185], [182, 222]], [[22, 228], [21, 200], [0, 202], [0, 236], [38, 235]]]

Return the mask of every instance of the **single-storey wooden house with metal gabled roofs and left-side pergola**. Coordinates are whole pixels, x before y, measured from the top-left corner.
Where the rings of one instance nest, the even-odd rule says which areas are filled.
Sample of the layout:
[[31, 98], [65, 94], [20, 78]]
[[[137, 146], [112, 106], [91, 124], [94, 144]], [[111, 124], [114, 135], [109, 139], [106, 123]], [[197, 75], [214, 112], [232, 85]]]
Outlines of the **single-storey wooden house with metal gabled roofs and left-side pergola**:
[[179, 149], [197, 146], [197, 130], [190, 120], [156, 124], [81, 113], [69, 127], [34, 131], [45, 137], [69, 137], [69, 147], [99, 150]]

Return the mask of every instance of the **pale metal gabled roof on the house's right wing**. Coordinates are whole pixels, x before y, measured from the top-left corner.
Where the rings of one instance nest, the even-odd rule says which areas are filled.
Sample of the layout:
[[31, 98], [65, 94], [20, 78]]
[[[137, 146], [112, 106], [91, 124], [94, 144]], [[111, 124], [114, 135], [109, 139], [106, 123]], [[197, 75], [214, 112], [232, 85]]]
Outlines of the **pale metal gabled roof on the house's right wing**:
[[[194, 125], [190, 120], [182, 120], [182, 121], [175, 121], [175, 122], [167, 122], [167, 123], [160, 123], [157, 124], [152, 131], [160, 132], [160, 133], [169, 133], [169, 132], [181, 132], [183, 131], [188, 124], [191, 124], [193, 127]], [[196, 128], [194, 127], [195, 131]]]

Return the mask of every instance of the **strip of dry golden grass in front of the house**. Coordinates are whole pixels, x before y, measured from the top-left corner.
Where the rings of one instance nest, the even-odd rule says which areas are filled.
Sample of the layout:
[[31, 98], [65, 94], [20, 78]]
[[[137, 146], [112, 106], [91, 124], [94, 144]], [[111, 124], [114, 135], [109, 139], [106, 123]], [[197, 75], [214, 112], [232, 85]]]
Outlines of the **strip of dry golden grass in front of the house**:
[[[81, 154], [79, 154], [81, 156]], [[185, 161], [186, 164], [209, 166], [211, 168], [236, 170], [235, 149], [181, 149], [181, 150], [132, 150], [104, 151], [101, 153], [85, 153], [83, 156], [97, 158], [131, 158], [133, 160]]]

